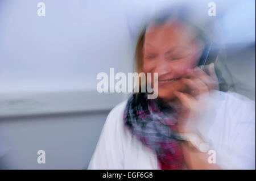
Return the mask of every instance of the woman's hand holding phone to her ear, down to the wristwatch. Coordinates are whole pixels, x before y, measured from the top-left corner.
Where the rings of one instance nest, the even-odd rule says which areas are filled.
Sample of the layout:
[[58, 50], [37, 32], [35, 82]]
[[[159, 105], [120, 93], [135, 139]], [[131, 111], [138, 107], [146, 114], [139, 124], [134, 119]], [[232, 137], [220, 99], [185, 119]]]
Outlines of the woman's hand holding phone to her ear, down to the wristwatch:
[[218, 90], [218, 79], [214, 71], [214, 64], [205, 66], [208, 74], [196, 67], [181, 78], [181, 82], [187, 85], [188, 90], [174, 94], [181, 102], [180, 120], [177, 125], [180, 132], [195, 132], [195, 121], [207, 107], [209, 94], [213, 90]]

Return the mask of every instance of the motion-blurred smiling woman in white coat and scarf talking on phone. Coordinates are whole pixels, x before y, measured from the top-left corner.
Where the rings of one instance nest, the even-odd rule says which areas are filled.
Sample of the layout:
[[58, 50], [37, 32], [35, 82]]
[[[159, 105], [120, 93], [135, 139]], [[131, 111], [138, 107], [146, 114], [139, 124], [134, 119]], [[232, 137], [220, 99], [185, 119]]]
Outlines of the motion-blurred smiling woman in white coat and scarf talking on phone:
[[136, 66], [158, 73], [158, 98], [140, 91], [109, 113], [89, 169], [255, 169], [255, 103], [225, 92], [207, 45], [180, 19], [147, 24]]

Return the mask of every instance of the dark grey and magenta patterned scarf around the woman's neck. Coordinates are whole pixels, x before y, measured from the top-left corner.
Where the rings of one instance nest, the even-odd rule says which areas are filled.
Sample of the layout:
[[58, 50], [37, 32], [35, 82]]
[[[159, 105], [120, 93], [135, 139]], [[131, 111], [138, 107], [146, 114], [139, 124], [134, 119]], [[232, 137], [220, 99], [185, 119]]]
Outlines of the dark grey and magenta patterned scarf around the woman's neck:
[[146, 93], [131, 95], [123, 115], [125, 128], [155, 151], [162, 169], [184, 168], [176, 117], [174, 108], [159, 99], [147, 99]]

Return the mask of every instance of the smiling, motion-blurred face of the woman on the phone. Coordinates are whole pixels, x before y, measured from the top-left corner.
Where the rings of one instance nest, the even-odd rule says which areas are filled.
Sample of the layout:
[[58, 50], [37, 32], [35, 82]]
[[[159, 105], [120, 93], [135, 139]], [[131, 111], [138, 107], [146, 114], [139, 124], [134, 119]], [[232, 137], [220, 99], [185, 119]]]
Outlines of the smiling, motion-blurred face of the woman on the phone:
[[185, 91], [180, 78], [197, 65], [202, 45], [188, 28], [177, 22], [147, 28], [143, 46], [144, 73], [158, 73], [158, 96], [175, 98], [174, 91]]

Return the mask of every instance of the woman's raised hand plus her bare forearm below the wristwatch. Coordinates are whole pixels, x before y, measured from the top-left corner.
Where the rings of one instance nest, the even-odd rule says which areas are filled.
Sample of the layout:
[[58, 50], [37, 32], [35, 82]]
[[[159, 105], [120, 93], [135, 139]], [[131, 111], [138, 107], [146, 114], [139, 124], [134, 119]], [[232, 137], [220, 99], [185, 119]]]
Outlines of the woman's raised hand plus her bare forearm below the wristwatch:
[[[196, 133], [196, 121], [205, 107], [208, 106], [210, 91], [218, 90], [218, 79], [214, 71], [214, 64], [208, 67], [208, 74], [198, 67], [189, 72], [182, 82], [187, 85], [189, 91], [175, 92], [182, 104], [181, 119], [178, 121], [178, 131], [181, 133]], [[208, 162], [208, 153], [201, 153], [193, 148], [189, 142], [181, 143], [183, 156], [187, 169], [220, 169], [217, 164]]]

